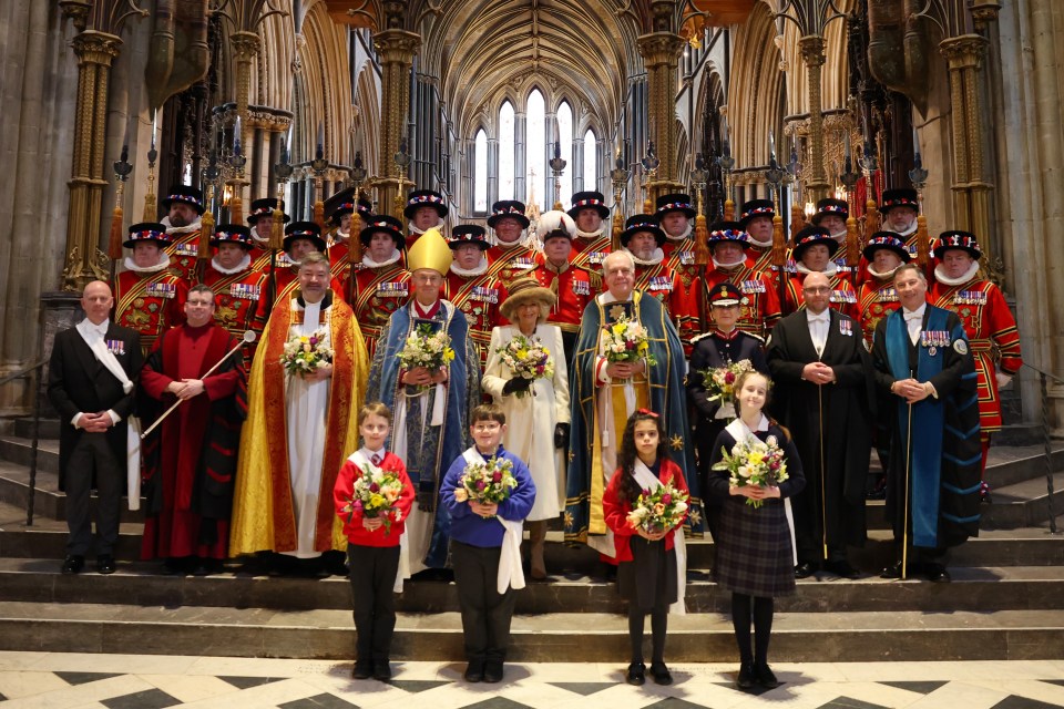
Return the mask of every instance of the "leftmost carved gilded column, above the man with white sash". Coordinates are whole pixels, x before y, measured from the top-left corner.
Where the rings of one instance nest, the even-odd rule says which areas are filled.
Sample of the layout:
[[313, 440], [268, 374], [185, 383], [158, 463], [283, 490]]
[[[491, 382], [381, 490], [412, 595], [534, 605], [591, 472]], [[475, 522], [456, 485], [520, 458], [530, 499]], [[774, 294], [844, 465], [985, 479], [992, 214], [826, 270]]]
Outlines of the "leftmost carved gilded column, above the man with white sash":
[[111, 62], [119, 55], [121, 45], [120, 38], [95, 30], [85, 30], [72, 41], [78, 55], [78, 107], [69, 183], [64, 290], [81, 290], [91, 280], [108, 278], [108, 258], [99, 248], [98, 229], [103, 191], [108, 186], [103, 178], [108, 82]]

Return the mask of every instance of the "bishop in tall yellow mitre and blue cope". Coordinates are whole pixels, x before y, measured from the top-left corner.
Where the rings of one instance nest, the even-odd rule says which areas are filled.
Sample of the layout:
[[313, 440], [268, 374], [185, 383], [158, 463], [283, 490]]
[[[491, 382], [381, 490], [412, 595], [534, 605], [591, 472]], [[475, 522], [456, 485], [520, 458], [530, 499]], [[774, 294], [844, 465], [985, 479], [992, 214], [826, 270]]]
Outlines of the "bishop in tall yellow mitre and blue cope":
[[[451, 520], [440, 506], [448, 466], [471, 445], [469, 415], [480, 403], [480, 361], [469, 321], [440, 297], [451, 249], [436, 229], [418, 236], [407, 255], [413, 296], [391, 314], [377, 340], [366, 395], [395, 412], [388, 449], [407, 464], [417, 505], [403, 531], [400, 575], [436, 576], [448, 565]], [[453, 359], [440, 369], [406, 368], [408, 338], [446, 332]], [[430, 571], [431, 569], [431, 571]]]

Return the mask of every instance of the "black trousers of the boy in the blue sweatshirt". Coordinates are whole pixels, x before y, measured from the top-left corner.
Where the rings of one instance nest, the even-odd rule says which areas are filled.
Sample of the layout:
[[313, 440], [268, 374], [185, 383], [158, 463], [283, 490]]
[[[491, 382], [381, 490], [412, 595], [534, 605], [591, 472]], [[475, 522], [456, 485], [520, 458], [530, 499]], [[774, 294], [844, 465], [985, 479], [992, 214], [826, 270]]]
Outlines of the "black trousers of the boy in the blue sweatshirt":
[[466, 659], [470, 662], [507, 659], [515, 597], [513, 588], [507, 588], [504, 594], [498, 592], [499, 553], [498, 546], [480, 547], [451, 541]]

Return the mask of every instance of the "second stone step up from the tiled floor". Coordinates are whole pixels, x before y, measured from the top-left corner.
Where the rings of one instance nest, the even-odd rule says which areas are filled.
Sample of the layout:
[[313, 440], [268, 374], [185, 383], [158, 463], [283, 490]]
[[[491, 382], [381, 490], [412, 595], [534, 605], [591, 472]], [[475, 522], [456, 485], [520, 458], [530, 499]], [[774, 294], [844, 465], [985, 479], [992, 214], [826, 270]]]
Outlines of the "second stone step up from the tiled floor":
[[[213, 576], [165, 576], [160, 564], [121, 562], [112, 575], [92, 571], [92, 562], [78, 576], [59, 573], [51, 559], [0, 559], [0, 600], [90, 603], [105, 605], [115, 598], [139, 606], [205, 606], [274, 608], [284, 610], [348, 609], [346, 578], [250, 576], [231, 566]], [[994, 612], [1064, 609], [1064, 566], [952, 566], [952, 584], [918, 579], [884, 580], [878, 575], [846, 580], [823, 573], [798, 582], [798, 592], [776, 602], [778, 610], [797, 613]], [[692, 574], [687, 608], [692, 613], [724, 613], [730, 594]], [[454, 584], [408, 582], [397, 598], [405, 613], [457, 612]], [[530, 583], [518, 594], [516, 613], [624, 613], [616, 585], [570, 573], [551, 583]]]

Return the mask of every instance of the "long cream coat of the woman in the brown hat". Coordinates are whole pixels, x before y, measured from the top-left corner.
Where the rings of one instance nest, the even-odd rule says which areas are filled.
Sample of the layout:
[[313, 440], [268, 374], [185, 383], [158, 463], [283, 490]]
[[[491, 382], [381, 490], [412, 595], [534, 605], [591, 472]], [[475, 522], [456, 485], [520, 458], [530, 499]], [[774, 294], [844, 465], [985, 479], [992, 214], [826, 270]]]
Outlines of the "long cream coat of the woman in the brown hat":
[[[507, 434], [503, 445], [528, 463], [535, 483], [535, 504], [528, 520], [553, 520], [562, 511], [559, 455], [554, 449], [554, 427], [569, 423], [569, 372], [562, 349], [562, 331], [555, 325], [540, 323], [533, 337], [546, 347], [554, 359], [554, 379], [536, 379], [529, 394], [518, 398], [503, 395], [502, 388], [511, 379], [510, 369], [502, 363], [497, 350], [505, 347], [520, 330], [515, 325], [493, 328], [488, 367], [480, 386], [507, 413]], [[534, 395], [532, 394], [534, 392]]]

